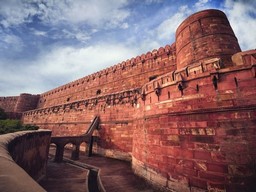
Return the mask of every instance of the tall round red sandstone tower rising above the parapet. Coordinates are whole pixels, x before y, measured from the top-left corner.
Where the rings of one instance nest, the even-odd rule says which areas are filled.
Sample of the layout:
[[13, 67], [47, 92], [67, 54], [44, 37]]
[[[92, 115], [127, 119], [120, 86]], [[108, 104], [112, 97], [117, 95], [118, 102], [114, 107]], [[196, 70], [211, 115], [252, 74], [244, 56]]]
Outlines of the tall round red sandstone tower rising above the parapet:
[[219, 10], [197, 12], [176, 30], [178, 70], [211, 58], [220, 58], [221, 67], [228, 67], [231, 56], [240, 51], [226, 15]]

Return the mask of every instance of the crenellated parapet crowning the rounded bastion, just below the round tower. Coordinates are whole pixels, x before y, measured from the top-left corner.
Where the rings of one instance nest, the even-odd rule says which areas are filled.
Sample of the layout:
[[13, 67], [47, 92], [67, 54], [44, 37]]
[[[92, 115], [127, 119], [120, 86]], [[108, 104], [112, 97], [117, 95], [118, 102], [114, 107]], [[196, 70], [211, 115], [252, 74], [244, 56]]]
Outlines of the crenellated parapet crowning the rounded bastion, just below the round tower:
[[[212, 87], [218, 89], [218, 83], [223, 81], [222, 74], [232, 73], [236, 71], [249, 70], [251, 77], [256, 77], [256, 50], [239, 52], [232, 56], [233, 67], [222, 68], [221, 58], [211, 58], [202, 62], [194, 63], [193, 65], [171, 71], [167, 74], [157, 77], [156, 79], [146, 83], [142, 87], [142, 98], [145, 100], [146, 95], [155, 92], [158, 96], [161, 89], [168, 86], [175, 86], [177, 90], [182, 92], [186, 89], [186, 82], [198, 81], [202, 78], [209, 77], [212, 81]], [[239, 74], [232, 76], [231, 81], [238, 86], [238, 81], [241, 80]], [[194, 90], [199, 92], [200, 85], [204, 82], [199, 82], [195, 85]], [[166, 94], [166, 93], [165, 93]], [[170, 93], [169, 93], [170, 94]], [[180, 96], [182, 96], [182, 94]]]

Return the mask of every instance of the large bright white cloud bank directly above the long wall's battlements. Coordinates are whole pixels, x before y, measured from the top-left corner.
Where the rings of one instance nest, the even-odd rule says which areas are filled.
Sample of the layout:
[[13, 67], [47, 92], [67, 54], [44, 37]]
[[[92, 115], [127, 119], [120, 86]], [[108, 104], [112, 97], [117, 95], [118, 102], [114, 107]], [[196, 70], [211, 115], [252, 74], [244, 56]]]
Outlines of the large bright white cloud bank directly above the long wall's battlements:
[[0, 96], [19, 95], [21, 92], [39, 94], [137, 54], [137, 48], [109, 42], [83, 48], [46, 49], [31, 61], [0, 61], [0, 71], [5, 71], [0, 76]]

